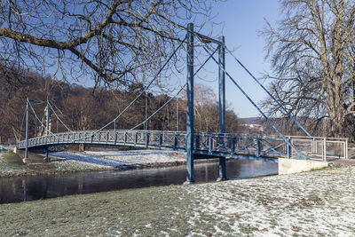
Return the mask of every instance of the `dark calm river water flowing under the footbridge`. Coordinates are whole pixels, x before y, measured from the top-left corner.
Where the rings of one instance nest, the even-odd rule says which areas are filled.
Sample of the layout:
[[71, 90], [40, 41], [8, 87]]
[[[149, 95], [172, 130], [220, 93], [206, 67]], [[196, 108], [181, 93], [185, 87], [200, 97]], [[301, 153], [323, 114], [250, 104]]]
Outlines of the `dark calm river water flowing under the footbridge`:
[[[278, 164], [233, 160], [226, 162], [228, 178], [253, 178], [277, 175]], [[195, 163], [196, 183], [215, 181], [218, 163]], [[103, 172], [70, 173], [56, 176], [0, 178], [0, 203], [32, 201], [70, 194], [90, 194], [148, 186], [169, 186], [184, 183], [185, 165]]]

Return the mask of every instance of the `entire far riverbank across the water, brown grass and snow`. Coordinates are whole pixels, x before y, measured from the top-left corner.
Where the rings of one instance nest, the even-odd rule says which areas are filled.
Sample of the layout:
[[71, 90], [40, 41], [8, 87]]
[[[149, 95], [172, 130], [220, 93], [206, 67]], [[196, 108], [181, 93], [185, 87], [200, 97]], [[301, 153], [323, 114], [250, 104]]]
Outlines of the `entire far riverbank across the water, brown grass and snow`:
[[[34, 154], [35, 155], [35, 154]], [[50, 162], [23, 164], [13, 153], [0, 153], [0, 177], [53, 175], [69, 172], [130, 170], [185, 164], [185, 154], [161, 150], [85, 151], [51, 153]]]

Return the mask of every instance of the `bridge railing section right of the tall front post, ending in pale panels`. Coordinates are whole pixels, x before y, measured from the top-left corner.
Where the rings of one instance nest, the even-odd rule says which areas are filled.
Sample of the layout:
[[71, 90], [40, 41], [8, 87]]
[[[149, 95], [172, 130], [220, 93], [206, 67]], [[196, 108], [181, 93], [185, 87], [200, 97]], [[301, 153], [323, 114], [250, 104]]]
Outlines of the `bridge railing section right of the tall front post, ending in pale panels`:
[[322, 138], [288, 136], [292, 149], [277, 137], [248, 137], [233, 134], [195, 134], [194, 142], [197, 150], [209, 153], [248, 154], [255, 156], [271, 156], [299, 158], [300, 154], [324, 161], [327, 158], [348, 159], [347, 138]]

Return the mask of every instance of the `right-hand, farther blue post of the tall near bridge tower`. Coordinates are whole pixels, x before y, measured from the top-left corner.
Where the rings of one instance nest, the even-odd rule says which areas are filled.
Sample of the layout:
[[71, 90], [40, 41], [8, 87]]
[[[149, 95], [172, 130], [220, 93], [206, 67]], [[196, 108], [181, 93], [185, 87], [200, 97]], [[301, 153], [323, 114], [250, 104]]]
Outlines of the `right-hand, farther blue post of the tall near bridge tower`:
[[[219, 134], [225, 134], [225, 36], [219, 38], [221, 45], [218, 49], [218, 101], [219, 101]], [[219, 139], [224, 142], [224, 139]], [[225, 157], [219, 158], [219, 178], [217, 180], [225, 180]]]

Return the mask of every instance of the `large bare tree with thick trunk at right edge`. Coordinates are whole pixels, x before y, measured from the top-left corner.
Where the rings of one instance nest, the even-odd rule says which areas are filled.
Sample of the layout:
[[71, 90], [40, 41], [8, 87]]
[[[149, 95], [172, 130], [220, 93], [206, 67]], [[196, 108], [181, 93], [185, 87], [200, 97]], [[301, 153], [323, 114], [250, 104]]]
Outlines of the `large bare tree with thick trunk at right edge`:
[[[267, 23], [264, 36], [273, 74], [270, 90], [293, 115], [327, 124], [329, 136], [350, 135], [355, 103], [355, 2], [282, 0], [283, 20]], [[273, 115], [282, 113], [272, 102]], [[276, 113], [276, 114], [275, 114]], [[353, 127], [353, 125], [352, 125]]]

